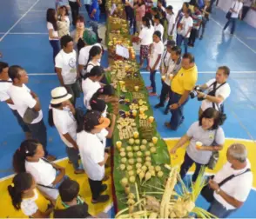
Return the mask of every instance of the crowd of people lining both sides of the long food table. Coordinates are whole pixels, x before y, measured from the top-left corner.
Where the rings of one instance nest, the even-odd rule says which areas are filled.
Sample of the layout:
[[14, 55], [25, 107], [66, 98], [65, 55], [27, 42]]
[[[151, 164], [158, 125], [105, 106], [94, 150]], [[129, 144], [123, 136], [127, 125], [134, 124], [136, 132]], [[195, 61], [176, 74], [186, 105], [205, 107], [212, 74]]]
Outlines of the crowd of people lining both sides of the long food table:
[[[236, 0], [239, 6], [236, 3], [232, 6], [229, 22], [233, 22], [234, 14], [239, 15], [240, 2]], [[59, 81], [59, 87], [51, 90], [48, 123], [56, 127], [74, 173], [88, 176], [91, 203], [107, 202], [109, 196], [102, 195], [107, 189], [104, 181], [109, 178], [104, 170], [110, 156], [106, 146], [111, 146], [108, 139], [116, 123], [116, 115], [109, 112], [107, 104], [118, 103], [118, 96], [114, 95], [104, 76], [105, 70], [111, 68], [104, 69], [100, 62], [104, 52], [98, 36], [100, 2], [84, 3], [91, 17], [92, 31], [84, 28], [79, 0], [70, 0], [69, 7], [61, 3], [63, 1], [57, 1], [56, 9], [48, 9], [46, 15]], [[134, 34], [138, 32], [133, 39], [140, 44], [140, 66], [143, 67], [146, 59], [150, 71], [151, 86], [147, 87], [150, 96], [157, 96], [155, 76], [158, 70], [161, 74], [162, 89], [155, 108], [165, 107], [165, 115], [171, 112], [166, 129], [179, 129], [189, 99], [197, 97], [202, 102], [199, 121], [192, 123], [170, 151], [176, 154], [177, 149], [189, 141], [180, 176], [185, 178], [195, 163], [192, 182], [196, 181], [202, 167], [208, 167], [213, 159], [214, 168], [218, 161], [219, 151], [225, 143], [225, 131], [221, 127], [226, 120], [223, 103], [231, 93], [227, 66], [220, 66], [215, 78], [197, 85], [195, 57], [187, 52], [187, 46], [193, 47], [197, 37], [203, 38], [211, 10], [212, 1], [206, 0], [203, 7], [198, 3], [184, 3], [176, 16], [172, 6], [166, 6], [164, 0], [158, 0], [156, 8], [152, 8], [150, 1], [125, 1], [130, 27]], [[74, 39], [70, 36], [71, 24], [77, 29]], [[185, 45], [184, 53], [181, 43]], [[12, 204], [15, 209], [22, 209], [26, 216], [48, 217], [53, 213], [54, 217], [89, 217], [88, 205], [79, 196], [79, 184], [66, 175], [63, 167], [52, 163], [56, 157], [47, 149], [41, 103], [37, 94], [27, 87], [28, 83], [29, 76], [24, 68], [0, 62], [0, 100], [10, 107], [26, 139], [13, 155], [13, 169], [17, 175], [8, 187]], [[85, 114], [76, 108], [81, 93], [87, 109]], [[246, 147], [232, 144], [226, 156], [228, 162], [209, 180], [214, 197], [208, 210], [218, 217], [227, 217], [239, 209], [253, 183]]]

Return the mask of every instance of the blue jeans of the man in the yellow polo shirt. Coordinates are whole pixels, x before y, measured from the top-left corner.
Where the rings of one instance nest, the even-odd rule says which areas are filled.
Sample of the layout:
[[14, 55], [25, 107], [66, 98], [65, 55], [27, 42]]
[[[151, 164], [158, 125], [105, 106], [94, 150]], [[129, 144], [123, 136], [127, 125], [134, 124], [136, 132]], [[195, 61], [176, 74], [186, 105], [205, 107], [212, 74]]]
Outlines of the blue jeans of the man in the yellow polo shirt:
[[[178, 103], [181, 96], [182, 95], [179, 95], [171, 90], [170, 99], [166, 106], [166, 110], [169, 110], [170, 105], [172, 105], [173, 103]], [[185, 103], [187, 101], [188, 101], [188, 99], [185, 101]], [[181, 123], [183, 123], [183, 120], [184, 120], [183, 108], [184, 108], [185, 103], [180, 105], [178, 109], [171, 110], [172, 116], [171, 116], [170, 124], [171, 124], [171, 128], [174, 130], [178, 129], [179, 125], [181, 125]]]

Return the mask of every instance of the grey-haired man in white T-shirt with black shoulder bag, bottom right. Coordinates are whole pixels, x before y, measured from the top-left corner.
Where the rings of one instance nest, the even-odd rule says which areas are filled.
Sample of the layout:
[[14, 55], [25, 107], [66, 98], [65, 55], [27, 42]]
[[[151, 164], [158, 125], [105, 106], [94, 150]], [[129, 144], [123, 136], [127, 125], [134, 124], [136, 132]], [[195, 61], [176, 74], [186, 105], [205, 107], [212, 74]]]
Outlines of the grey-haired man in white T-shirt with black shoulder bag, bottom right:
[[[227, 163], [209, 181], [214, 199], [207, 211], [212, 215], [226, 218], [246, 202], [253, 186], [253, 173], [247, 155], [246, 146], [240, 143], [233, 143], [227, 149]], [[219, 186], [228, 177], [232, 178]]]

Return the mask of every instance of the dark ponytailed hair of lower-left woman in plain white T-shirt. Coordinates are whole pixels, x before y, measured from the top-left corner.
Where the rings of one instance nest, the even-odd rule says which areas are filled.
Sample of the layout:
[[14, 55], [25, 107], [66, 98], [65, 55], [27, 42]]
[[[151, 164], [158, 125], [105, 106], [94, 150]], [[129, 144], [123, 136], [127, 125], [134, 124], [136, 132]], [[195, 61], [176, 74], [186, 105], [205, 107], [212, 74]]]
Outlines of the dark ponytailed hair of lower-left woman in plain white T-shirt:
[[15, 151], [12, 157], [12, 166], [16, 173], [25, 172], [25, 160], [27, 156], [34, 156], [39, 142], [34, 139], [25, 140]]

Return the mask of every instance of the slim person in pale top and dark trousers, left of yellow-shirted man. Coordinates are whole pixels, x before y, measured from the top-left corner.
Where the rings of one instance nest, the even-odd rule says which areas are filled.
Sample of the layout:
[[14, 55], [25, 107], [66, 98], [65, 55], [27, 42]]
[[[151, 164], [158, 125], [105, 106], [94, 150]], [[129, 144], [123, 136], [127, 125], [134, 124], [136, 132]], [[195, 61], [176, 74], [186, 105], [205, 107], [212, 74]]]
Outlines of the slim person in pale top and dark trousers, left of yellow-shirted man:
[[162, 78], [162, 90], [160, 95], [160, 103], [155, 105], [155, 108], [158, 109], [165, 105], [166, 97], [169, 96], [169, 92], [171, 90], [170, 86], [170, 76], [168, 74], [169, 66], [173, 63], [171, 52], [172, 48], [175, 46], [175, 42], [172, 40], [168, 40], [166, 44], [166, 50], [162, 56], [162, 61], [160, 64], [160, 74]]

